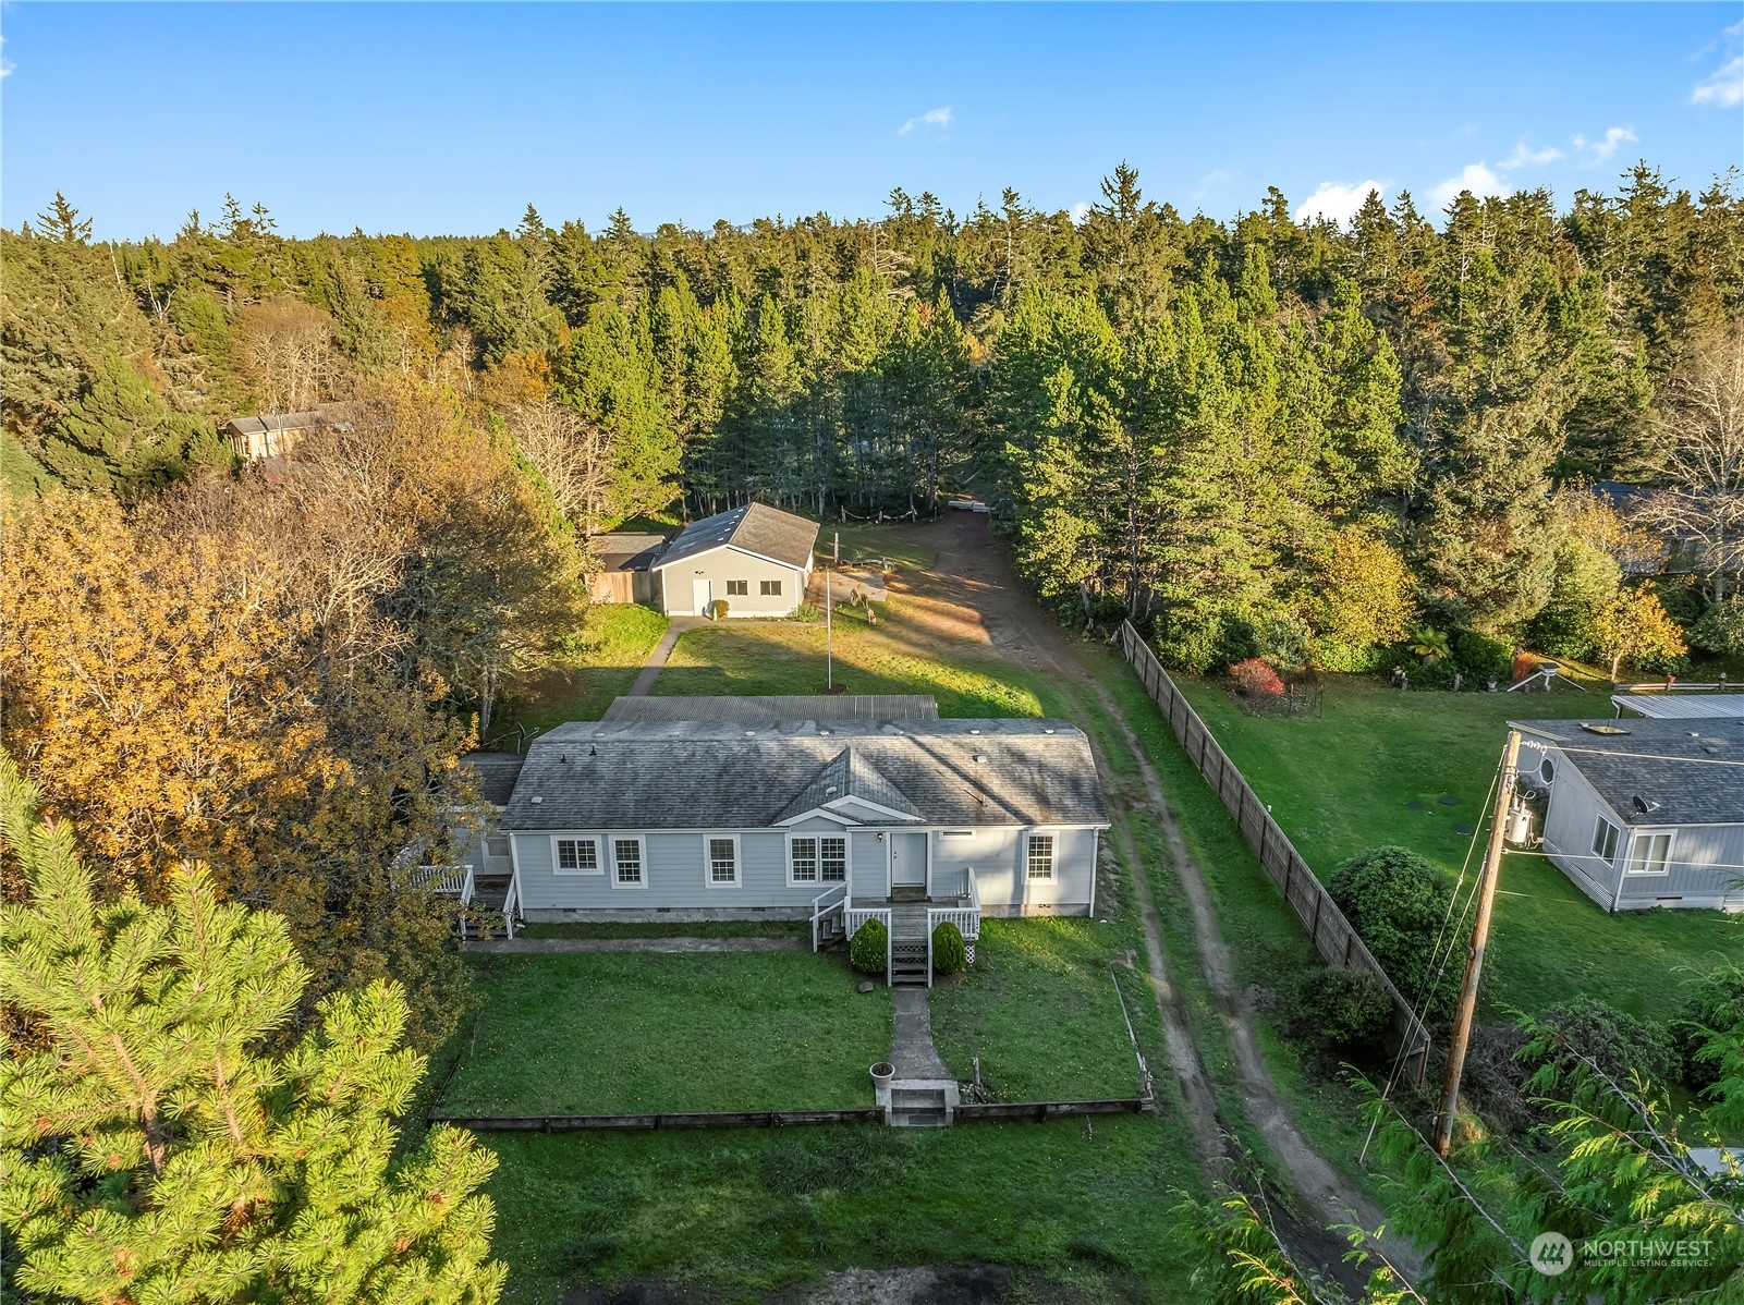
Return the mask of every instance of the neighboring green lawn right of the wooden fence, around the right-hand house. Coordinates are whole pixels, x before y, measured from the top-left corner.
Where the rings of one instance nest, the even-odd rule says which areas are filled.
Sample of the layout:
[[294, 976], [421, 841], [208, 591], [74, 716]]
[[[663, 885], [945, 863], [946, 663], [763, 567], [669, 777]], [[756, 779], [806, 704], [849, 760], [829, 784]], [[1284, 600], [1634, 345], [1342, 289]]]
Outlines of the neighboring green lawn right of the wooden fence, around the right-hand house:
[[[1322, 879], [1381, 843], [1458, 874], [1472, 837], [1454, 827], [1482, 829], [1505, 722], [1611, 714], [1601, 693], [1397, 693], [1338, 677], [1320, 717], [1285, 721], [1245, 715], [1205, 680], [1182, 679], [1181, 689]], [[1444, 794], [1453, 806], [1437, 801]], [[1477, 846], [1474, 872], [1481, 855]], [[1498, 892], [1484, 961], [1496, 1015], [1585, 994], [1666, 1019], [1681, 1005], [1678, 967], [1709, 967], [1744, 944], [1744, 919], [1716, 911], [1610, 916], [1538, 855], [1509, 857]]]

